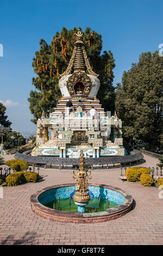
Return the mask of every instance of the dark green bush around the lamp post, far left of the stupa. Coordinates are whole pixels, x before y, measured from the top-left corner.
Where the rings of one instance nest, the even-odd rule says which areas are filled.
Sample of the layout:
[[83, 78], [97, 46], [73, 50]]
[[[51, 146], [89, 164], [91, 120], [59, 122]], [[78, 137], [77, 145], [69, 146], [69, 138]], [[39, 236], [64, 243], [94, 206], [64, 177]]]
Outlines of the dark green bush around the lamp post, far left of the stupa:
[[[4, 147], [5, 149], [12, 149], [12, 148], [17, 148], [18, 147], [18, 137], [20, 140], [20, 146], [26, 144], [26, 138], [24, 138], [22, 135], [20, 135], [20, 132], [16, 131], [10, 131], [8, 134], [5, 136], [5, 142], [4, 142]], [[12, 139], [11, 137], [14, 137]]]

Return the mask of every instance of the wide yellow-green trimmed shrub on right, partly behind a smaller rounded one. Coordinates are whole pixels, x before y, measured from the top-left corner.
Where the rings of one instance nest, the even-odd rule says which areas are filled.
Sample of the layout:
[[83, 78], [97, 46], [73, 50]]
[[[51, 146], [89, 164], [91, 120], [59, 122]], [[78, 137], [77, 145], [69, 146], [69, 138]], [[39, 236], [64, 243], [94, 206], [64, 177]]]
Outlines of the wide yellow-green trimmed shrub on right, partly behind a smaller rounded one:
[[127, 181], [140, 182], [142, 173], [150, 174], [151, 170], [147, 167], [131, 167], [126, 170]]

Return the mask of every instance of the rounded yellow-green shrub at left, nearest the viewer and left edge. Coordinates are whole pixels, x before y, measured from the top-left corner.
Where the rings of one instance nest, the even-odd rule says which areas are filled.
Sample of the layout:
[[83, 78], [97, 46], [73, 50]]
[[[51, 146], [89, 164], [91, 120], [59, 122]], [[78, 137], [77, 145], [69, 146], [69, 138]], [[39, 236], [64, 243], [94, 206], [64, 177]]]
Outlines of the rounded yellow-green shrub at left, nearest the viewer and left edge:
[[7, 176], [5, 179], [8, 186], [17, 186], [21, 183], [26, 182], [23, 172], [14, 172]]

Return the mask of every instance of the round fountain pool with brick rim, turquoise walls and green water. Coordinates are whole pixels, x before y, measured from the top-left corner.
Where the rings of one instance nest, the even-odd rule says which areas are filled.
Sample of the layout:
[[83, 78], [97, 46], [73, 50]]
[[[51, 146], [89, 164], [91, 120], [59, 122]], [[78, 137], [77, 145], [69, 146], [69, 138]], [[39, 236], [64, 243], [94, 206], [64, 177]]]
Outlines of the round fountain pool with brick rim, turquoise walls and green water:
[[[133, 198], [120, 188], [91, 184], [91, 200], [85, 212], [77, 212], [73, 202], [76, 187], [74, 184], [56, 185], [37, 191], [30, 197], [32, 209], [48, 220], [74, 223], [95, 223], [114, 220], [130, 211]], [[71, 195], [71, 205], [70, 205]], [[100, 196], [100, 205], [99, 205]], [[60, 209], [58, 209], [58, 197]], [[108, 204], [109, 202], [109, 204]], [[53, 209], [55, 205], [55, 208]]]

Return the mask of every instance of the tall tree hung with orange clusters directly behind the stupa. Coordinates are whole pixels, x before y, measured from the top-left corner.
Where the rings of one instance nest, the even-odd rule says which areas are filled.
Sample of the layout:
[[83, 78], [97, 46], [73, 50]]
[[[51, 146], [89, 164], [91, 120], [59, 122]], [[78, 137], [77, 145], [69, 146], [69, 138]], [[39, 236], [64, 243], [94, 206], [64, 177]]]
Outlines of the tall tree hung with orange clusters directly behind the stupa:
[[[32, 80], [35, 90], [32, 90], [28, 101], [30, 111], [34, 115], [31, 121], [36, 124], [36, 120], [41, 117], [44, 110], [46, 116], [52, 112], [60, 99], [61, 92], [58, 86], [62, 74], [70, 62], [77, 28], [57, 32], [50, 45], [43, 39], [40, 40], [40, 50], [35, 52], [32, 66], [37, 77]], [[114, 74], [112, 69], [115, 67], [114, 58], [111, 51], [102, 51], [102, 36], [91, 28], [86, 28], [83, 41], [86, 48], [87, 57], [90, 65], [101, 80], [101, 88], [97, 95], [101, 100], [105, 111], [114, 113], [115, 89], [112, 86]], [[72, 69], [73, 72], [73, 69]]]

